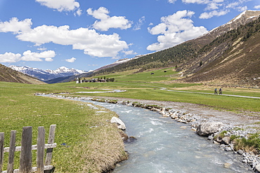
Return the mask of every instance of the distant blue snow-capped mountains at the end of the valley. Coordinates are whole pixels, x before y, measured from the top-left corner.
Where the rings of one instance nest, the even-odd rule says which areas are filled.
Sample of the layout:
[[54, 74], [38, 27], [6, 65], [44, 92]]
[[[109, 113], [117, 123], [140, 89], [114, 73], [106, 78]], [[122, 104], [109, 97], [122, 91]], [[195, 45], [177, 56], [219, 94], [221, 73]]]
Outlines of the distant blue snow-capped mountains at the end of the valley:
[[27, 66], [17, 67], [15, 65], [11, 65], [10, 68], [16, 71], [20, 71], [23, 74], [27, 74], [35, 78], [39, 78], [41, 81], [48, 81], [53, 78], [73, 76], [73, 75], [83, 74], [87, 72], [78, 69], [68, 69], [67, 67], [60, 67], [56, 70], [51, 70], [51, 69], [42, 70], [42, 69], [37, 69], [37, 68], [32, 68]]

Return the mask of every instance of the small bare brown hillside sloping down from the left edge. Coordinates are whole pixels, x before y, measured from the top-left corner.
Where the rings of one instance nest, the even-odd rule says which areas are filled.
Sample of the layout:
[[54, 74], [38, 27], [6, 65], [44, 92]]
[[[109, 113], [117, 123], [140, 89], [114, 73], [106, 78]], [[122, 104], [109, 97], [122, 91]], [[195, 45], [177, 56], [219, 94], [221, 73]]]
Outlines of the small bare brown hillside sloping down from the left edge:
[[37, 78], [33, 78], [19, 71], [15, 71], [9, 67], [0, 64], [0, 81], [15, 82], [15, 83], [28, 83], [28, 84], [44, 84]]

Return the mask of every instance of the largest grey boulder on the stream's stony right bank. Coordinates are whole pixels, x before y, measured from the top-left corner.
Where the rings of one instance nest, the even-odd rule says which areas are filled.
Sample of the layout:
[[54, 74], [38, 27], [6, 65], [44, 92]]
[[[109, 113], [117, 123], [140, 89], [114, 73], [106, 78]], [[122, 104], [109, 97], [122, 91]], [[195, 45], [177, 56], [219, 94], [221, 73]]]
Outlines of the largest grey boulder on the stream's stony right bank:
[[201, 123], [199, 126], [197, 126], [196, 132], [200, 136], [208, 137], [210, 134], [219, 132], [222, 127], [223, 127], [223, 123], [221, 123], [221, 122]]

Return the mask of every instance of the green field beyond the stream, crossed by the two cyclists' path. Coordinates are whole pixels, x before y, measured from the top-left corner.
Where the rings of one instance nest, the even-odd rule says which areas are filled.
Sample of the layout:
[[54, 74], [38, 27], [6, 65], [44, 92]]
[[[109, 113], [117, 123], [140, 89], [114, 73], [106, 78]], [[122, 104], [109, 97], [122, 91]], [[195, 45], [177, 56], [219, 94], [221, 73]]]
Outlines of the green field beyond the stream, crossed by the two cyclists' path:
[[[164, 72], [166, 71], [166, 72]], [[153, 73], [153, 75], [151, 75]], [[152, 71], [144, 71], [136, 74], [134, 70], [118, 72], [106, 75], [105, 78], [115, 78], [114, 83], [67, 83], [63, 85], [74, 85], [82, 88], [122, 89], [126, 92], [119, 93], [82, 93], [74, 95], [91, 95], [106, 97], [124, 97], [133, 99], [152, 99], [171, 102], [188, 102], [193, 104], [202, 104], [212, 106], [215, 109], [224, 109], [228, 111], [244, 112], [254, 111], [260, 112], [260, 99], [228, 97], [223, 95], [207, 95], [204, 93], [214, 93], [215, 87], [202, 85], [201, 83], [174, 83], [174, 78], [178, 78], [174, 68], [155, 69]], [[103, 78], [104, 76], [95, 76], [95, 78]], [[167, 90], [188, 91], [173, 92]], [[219, 90], [219, 88], [217, 88]], [[260, 97], [260, 89], [253, 88], [222, 88], [224, 95], [242, 95], [249, 97]]]

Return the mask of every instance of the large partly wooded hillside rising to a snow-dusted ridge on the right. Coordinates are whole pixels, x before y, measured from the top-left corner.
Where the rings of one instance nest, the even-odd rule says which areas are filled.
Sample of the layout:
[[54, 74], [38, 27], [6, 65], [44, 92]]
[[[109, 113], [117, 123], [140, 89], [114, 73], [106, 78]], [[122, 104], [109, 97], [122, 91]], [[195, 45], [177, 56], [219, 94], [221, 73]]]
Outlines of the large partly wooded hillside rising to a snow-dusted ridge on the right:
[[[260, 11], [245, 11], [197, 39], [100, 69], [93, 75], [177, 67], [176, 71], [187, 76], [181, 80], [184, 82], [259, 85], [259, 15]], [[251, 64], [256, 65], [252, 67]]]

